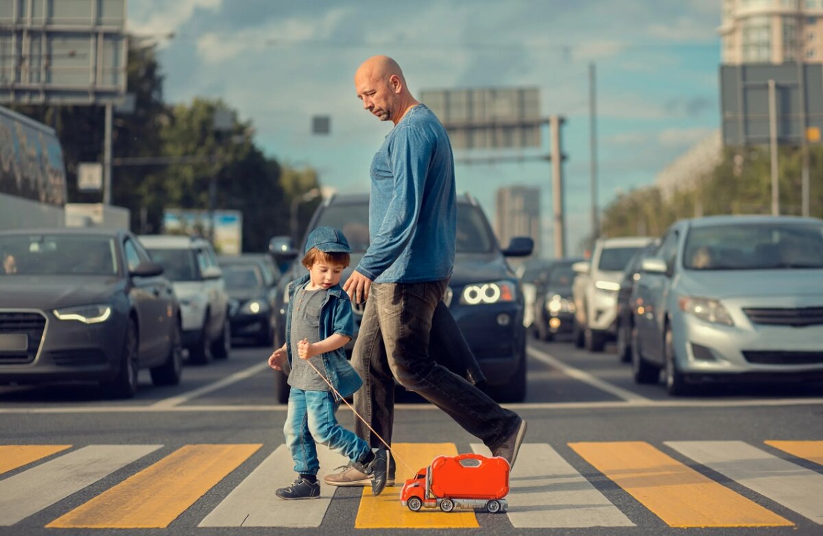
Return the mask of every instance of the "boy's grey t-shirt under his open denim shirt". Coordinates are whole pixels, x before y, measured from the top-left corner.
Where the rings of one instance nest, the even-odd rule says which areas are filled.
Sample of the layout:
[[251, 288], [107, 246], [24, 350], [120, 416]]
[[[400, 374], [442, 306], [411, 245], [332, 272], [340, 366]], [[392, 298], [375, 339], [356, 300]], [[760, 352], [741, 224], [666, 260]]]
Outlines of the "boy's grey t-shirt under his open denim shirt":
[[[310, 343], [320, 340], [320, 307], [323, 307], [328, 297], [327, 289], [306, 290], [301, 285], [295, 292], [294, 302], [291, 304], [291, 372], [289, 385], [302, 390], [329, 390], [328, 384], [319, 377], [317, 372], [300, 359], [297, 353], [297, 343], [308, 339]], [[326, 367], [323, 367], [323, 355], [315, 355], [309, 361], [317, 368], [323, 377], [326, 377]]]

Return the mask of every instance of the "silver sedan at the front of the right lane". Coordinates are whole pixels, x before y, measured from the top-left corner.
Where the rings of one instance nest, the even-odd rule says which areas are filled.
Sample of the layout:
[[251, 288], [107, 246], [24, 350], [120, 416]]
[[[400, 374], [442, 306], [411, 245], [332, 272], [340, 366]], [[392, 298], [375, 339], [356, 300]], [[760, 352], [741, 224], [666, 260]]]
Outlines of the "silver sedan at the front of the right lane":
[[710, 381], [823, 379], [823, 220], [673, 224], [635, 286], [635, 381], [671, 395]]

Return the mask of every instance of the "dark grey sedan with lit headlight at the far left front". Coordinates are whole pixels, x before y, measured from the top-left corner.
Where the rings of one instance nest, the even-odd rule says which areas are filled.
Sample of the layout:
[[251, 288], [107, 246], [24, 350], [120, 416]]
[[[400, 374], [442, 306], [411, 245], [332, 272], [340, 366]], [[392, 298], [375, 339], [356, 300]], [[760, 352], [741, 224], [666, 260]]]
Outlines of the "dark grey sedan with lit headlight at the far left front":
[[181, 377], [174, 287], [125, 230], [0, 232], [0, 383], [96, 381], [119, 398], [137, 373]]

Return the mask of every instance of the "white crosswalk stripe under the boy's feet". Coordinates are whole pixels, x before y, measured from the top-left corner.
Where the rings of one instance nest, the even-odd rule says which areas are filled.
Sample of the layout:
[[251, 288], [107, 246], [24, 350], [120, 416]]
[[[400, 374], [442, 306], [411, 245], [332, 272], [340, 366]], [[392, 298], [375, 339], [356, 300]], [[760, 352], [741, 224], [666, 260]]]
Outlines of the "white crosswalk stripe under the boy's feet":
[[321, 498], [302, 501], [298, 508], [293, 501], [284, 501], [274, 494], [277, 487], [286, 487], [296, 478], [292, 470], [294, 462], [291, 460], [289, 449], [281, 445], [238, 487], [235, 487], [198, 526], [319, 527], [337, 489], [324, 485], [323, 477], [333, 473], [335, 468], [346, 465], [349, 460], [322, 445], [317, 446], [317, 455], [320, 461], [318, 478], [321, 482]]

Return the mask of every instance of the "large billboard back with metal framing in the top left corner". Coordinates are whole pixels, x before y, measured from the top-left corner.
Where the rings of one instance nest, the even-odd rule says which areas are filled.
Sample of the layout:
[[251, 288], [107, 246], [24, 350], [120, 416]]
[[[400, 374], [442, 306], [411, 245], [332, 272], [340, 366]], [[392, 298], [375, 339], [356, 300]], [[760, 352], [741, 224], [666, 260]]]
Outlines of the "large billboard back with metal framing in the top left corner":
[[125, 21], [126, 0], [0, 2], [0, 103], [118, 103]]

